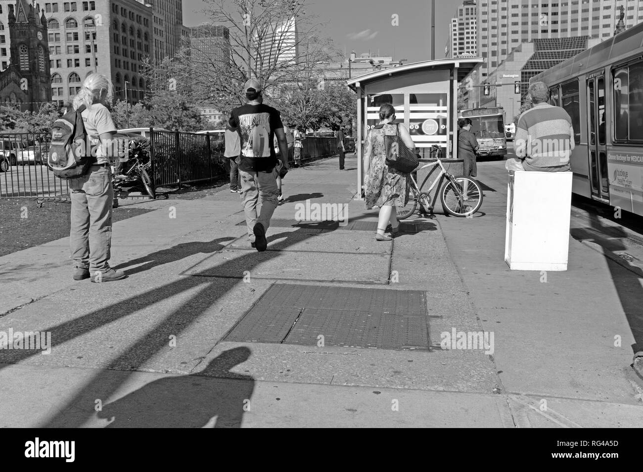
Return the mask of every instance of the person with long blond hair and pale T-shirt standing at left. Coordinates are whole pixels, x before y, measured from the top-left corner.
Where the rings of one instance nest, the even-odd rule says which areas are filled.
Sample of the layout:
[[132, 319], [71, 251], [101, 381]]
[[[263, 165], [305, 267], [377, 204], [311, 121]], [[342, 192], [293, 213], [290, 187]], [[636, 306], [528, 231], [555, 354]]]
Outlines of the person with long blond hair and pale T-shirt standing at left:
[[[114, 190], [110, 161], [114, 159], [112, 137], [116, 125], [105, 107], [114, 97], [111, 81], [102, 74], [87, 76], [73, 100], [91, 144], [91, 166], [84, 175], [69, 179], [71, 189], [71, 230], [69, 245], [74, 260], [74, 280], [111, 282], [127, 277], [109, 267], [112, 243], [112, 203]], [[90, 146], [86, 145], [86, 148]]]

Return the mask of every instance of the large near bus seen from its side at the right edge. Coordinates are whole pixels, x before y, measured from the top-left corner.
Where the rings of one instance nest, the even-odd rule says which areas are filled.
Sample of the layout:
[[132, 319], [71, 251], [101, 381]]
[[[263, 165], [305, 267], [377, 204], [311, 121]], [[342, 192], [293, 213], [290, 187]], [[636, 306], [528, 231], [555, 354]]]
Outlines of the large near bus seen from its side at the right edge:
[[531, 82], [572, 118], [572, 191], [643, 215], [643, 23]]

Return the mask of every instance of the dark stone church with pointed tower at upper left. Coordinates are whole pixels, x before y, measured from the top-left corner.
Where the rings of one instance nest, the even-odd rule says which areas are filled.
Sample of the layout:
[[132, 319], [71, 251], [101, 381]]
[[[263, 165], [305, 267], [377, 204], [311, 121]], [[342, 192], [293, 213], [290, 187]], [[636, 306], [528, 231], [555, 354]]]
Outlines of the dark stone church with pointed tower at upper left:
[[0, 72], [0, 103], [15, 103], [23, 111], [37, 111], [41, 103], [51, 101], [44, 9], [27, 0], [17, 0], [15, 6], [9, 5], [8, 35], [11, 64]]

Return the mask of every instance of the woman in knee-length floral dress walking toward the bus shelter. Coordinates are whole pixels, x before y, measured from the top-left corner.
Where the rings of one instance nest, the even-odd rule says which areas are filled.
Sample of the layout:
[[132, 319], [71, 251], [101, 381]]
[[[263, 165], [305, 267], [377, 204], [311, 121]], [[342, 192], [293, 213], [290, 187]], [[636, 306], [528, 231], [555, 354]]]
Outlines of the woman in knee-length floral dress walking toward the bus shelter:
[[391, 233], [399, 231], [399, 221], [395, 214], [395, 206], [404, 206], [408, 202], [408, 174], [399, 172], [386, 165], [386, 150], [384, 137], [394, 136], [399, 129], [399, 135], [410, 150], [415, 152], [415, 144], [404, 125], [399, 127], [395, 121], [395, 109], [390, 103], [379, 108], [379, 125], [368, 132], [367, 148], [364, 156], [366, 209], [379, 208], [377, 221], [377, 241], [390, 241], [386, 236], [386, 225], [391, 223]]

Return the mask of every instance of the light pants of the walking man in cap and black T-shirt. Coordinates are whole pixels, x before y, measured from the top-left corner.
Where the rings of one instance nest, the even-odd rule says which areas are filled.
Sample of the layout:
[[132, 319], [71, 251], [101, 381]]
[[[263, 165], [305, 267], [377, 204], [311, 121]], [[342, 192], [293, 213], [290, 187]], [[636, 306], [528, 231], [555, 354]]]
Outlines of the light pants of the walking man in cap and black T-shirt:
[[[277, 171], [255, 172], [239, 171], [241, 175], [241, 196], [243, 197], [243, 209], [246, 213], [246, 226], [248, 227], [248, 239], [255, 240], [253, 228], [255, 223], [264, 225], [268, 231], [270, 218], [273, 217], [277, 207]], [[260, 205], [257, 215], [257, 205]]]

